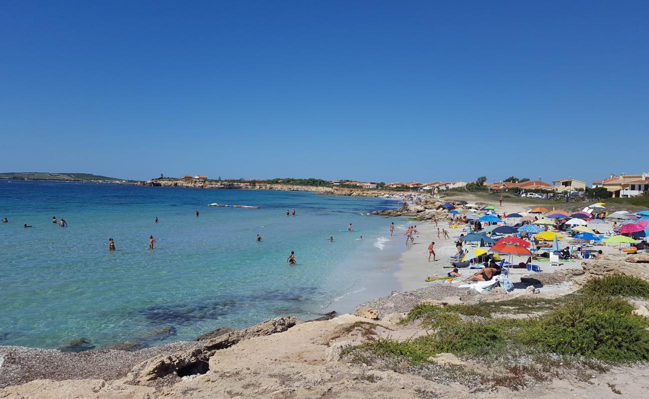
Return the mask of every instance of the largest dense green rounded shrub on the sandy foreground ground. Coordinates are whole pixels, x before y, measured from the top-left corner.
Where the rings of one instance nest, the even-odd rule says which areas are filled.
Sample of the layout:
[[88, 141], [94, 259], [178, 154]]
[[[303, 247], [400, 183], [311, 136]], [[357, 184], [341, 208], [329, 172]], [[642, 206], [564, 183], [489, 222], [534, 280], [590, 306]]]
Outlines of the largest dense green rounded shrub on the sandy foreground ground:
[[625, 300], [591, 296], [528, 322], [520, 339], [556, 354], [610, 363], [649, 360], [649, 322]]

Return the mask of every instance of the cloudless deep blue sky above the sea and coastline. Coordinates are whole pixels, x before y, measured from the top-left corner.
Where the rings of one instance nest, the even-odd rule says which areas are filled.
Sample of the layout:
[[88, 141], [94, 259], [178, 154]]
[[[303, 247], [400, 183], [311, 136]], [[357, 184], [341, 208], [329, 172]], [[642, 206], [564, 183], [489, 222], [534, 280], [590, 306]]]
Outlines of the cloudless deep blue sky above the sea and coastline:
[[0, 171], [649, 171], [649, 1], [0, 3]]

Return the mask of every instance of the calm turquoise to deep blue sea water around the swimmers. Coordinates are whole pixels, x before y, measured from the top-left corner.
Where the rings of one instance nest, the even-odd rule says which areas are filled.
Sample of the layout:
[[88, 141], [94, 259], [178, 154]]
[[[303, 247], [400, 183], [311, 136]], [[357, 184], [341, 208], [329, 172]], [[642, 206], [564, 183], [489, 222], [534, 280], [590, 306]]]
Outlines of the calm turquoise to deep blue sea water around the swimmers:
[[[0, 224], [0, 345], [151, 346], [219, 326], [350, 311], [398, 288], [402, 240], [387, 239], [388, 226], [405, 222], [363, 215], [394, 206], [288, 191], [0, 180], [0, 218], [9, 220]], [[360, 232], [338, 231], [349, 223]]]

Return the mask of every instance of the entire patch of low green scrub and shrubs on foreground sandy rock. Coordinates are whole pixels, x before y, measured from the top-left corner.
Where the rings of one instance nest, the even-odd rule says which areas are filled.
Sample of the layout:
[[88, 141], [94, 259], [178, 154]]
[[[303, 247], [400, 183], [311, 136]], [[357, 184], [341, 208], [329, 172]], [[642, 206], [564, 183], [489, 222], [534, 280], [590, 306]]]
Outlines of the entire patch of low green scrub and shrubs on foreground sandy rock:
[[[611, 276], [591, 280], [579, 293], [556, 299], [420, 304], [399, 324], [416, 322], [427, 335], [406, 341], [376, 339], [346, 348], [344, 356], [434, 378], [430, 373], [439, 365], [436, 357], [452, 354], [484, 370], [508, 370], [507, 378], [488, 373], [478, 377], [481, 385], [511, 389], [562, 374], [589, 380], [593, 370], [649, 361], [649, 320], [635, 315], [634, 306], [622, 298], [649, 298], [648, 294], [644, 280]], [[528, 317], [513, 317], [516, 314]], [[401, 364], [408, 367], [398, 367]], [[461, 373], [458, 382], [465, 378]]]

